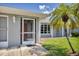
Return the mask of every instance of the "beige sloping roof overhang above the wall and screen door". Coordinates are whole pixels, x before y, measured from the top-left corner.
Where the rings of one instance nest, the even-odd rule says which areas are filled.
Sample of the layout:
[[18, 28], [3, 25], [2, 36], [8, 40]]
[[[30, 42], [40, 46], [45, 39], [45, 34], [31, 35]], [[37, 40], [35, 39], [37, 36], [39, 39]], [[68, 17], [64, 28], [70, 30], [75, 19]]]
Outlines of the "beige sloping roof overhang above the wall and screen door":
[[33, 13], [27, 10], [16, 9], [16, 8], [5, 7], [5, 6], [0, 6], [0, 13], [31, 16], [31, 17], [38, 17], [38, 18], [44, 18], [48, 16], [47, 14]]

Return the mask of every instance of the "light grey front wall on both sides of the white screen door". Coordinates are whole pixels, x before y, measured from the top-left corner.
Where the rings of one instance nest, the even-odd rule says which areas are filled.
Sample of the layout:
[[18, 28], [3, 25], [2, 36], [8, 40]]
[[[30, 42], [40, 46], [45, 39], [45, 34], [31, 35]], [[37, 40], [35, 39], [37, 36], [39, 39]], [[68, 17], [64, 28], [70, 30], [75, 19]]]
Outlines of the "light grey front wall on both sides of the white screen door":
[[[20, 20], [23, 16], [8, 15], [8, 47], [20, 45]], [[25, 18], [25, 17], [24, 17]], [[36, 19], [36, 43], [40, 41], [39, 18]], [[1, 43], [3, 45], [5, 42]], [[6, 46], [6, 45], [5, 45]], [[6, 46], [7, 47], [7, 46]]]

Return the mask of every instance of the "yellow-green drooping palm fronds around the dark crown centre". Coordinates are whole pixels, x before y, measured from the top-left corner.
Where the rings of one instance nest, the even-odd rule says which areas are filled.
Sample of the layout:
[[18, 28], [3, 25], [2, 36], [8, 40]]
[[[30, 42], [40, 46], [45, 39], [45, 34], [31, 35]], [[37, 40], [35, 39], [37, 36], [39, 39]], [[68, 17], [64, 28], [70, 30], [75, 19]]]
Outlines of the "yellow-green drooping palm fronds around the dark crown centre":
[[[78, 5], [78, 6], [76, 6]], [[50, 18], [50, 25], [54, 26], [54, 28], [58, 29], [64, 26], [64, 22], [62, 21], [62, 15], [67, 14], [69, 16], [68, 22], [66, 23], [67, 28], [78, 28], [79, 27], [79, 13], [76, 13], [76, 9], [79, 7], [79, 4], [60, 4], [58, 8], [56, 8], [52, 12], [52, 16]]]

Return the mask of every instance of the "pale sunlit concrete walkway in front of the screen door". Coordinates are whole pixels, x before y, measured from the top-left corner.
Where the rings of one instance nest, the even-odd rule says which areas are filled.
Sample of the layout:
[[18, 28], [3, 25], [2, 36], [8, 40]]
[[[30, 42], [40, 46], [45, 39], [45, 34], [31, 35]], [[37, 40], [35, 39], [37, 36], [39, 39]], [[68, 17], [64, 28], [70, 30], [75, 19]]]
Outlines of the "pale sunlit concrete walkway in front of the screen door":
[[0, 56], [43, 56], [46, 53], [47, 50], [40, 45], [0, 49]]

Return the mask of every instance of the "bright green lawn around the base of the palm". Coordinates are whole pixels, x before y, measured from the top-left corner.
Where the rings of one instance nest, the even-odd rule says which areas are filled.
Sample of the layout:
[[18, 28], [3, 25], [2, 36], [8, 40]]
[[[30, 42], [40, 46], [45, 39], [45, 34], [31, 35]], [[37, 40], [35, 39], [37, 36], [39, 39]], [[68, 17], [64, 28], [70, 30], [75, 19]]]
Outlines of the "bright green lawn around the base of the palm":
[[[70, 38], [75, 51], [79, 53], [79, 37]], [[48, 50], [49, 56], [66, 56], [71, 51], [66, 38], [52, 38], [42, 40], [42, 46]]]

